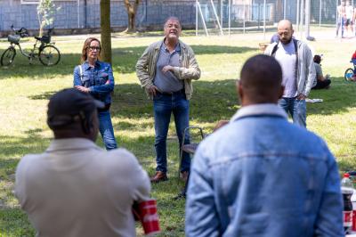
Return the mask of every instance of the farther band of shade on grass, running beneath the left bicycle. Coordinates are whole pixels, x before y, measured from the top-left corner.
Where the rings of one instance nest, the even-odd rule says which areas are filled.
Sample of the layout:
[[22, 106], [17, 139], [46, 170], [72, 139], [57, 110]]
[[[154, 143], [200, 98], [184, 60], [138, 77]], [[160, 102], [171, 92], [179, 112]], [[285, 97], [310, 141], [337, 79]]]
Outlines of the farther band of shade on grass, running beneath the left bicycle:
[[[153, 43], [153, 42], [152, 42]], [[119, 73], [132, 73], [135, 71], [137, 60], [141, 57], [147, 46], [118, 47], [112, 49], [113, 70]], [[255, 51], [255, 48], [221, 45], [192, 45], [196, 55], [218, 53], [246, 53]], [[0, 67], [0, 80], [7, 78], [53, 79], [57, 77], [72, 77], [73, 69], [79, 64], [80, 53], [61, 53], [61, 61], [53, 67], [45, 67], [39, 61], [29, 64], [28, 59], [16, 55], [10, 67]]]

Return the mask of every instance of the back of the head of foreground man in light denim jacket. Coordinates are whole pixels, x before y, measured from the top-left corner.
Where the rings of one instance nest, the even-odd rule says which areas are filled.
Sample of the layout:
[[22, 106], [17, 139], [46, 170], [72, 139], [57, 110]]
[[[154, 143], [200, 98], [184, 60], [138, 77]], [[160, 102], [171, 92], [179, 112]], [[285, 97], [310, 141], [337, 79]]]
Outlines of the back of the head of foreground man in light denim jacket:
[[243, 106], [277, 103], [284, 90], [279, 62], [263, 54], [248, 59], [241, 69], [238, 87]]

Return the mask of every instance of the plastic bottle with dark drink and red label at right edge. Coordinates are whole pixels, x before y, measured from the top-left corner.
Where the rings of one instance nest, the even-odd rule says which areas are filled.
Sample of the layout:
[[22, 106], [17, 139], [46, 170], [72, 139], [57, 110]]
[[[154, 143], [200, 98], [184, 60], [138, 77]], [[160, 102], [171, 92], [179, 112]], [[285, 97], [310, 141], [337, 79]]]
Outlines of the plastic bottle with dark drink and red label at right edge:
[[341, 192], [343, 193], [344, 200], [344, 232], [352, 232], [352, 193], [353, 185], [350, 180], [349, 174], [344, 174], [344, 178], [341, 180]]

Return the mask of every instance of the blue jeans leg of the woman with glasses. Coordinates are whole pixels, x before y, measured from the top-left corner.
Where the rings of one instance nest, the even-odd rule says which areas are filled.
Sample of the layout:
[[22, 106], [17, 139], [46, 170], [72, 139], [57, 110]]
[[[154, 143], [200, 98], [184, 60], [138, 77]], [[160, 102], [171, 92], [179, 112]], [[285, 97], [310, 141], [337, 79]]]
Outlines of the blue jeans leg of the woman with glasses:
[[114, 129], [112, 128], [111, 115], [109, 110], [98, 112], [99, 131], [101, 132], [102, 141], [106, 150], [116, 149], [117, 141], [115, 140]]

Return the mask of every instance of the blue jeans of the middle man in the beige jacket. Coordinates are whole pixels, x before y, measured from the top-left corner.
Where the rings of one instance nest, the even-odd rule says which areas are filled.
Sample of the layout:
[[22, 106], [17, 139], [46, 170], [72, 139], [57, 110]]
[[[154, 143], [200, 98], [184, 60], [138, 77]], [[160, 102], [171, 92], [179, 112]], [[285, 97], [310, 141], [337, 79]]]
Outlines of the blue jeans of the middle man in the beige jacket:
[[[166, 161], [166, 137], [168, 134], [171, 114], [174, 115], [175, 131], [178, 135], [179, 147], [182, 146], [182, 135], [184, 128], [189, 127], [190, 102], [185, 98], [185, 94], [176, 92], [174, 94], [158, 93], [153, 98], [153, 110], [155, 113], [155, 148], [157, 171], [167, 171]], [[184, 144], [190, 143], [190, 135], [186, 133]], [[190, 170], [190, 155], [186, 152], [182, 154], [182, 171]]]

